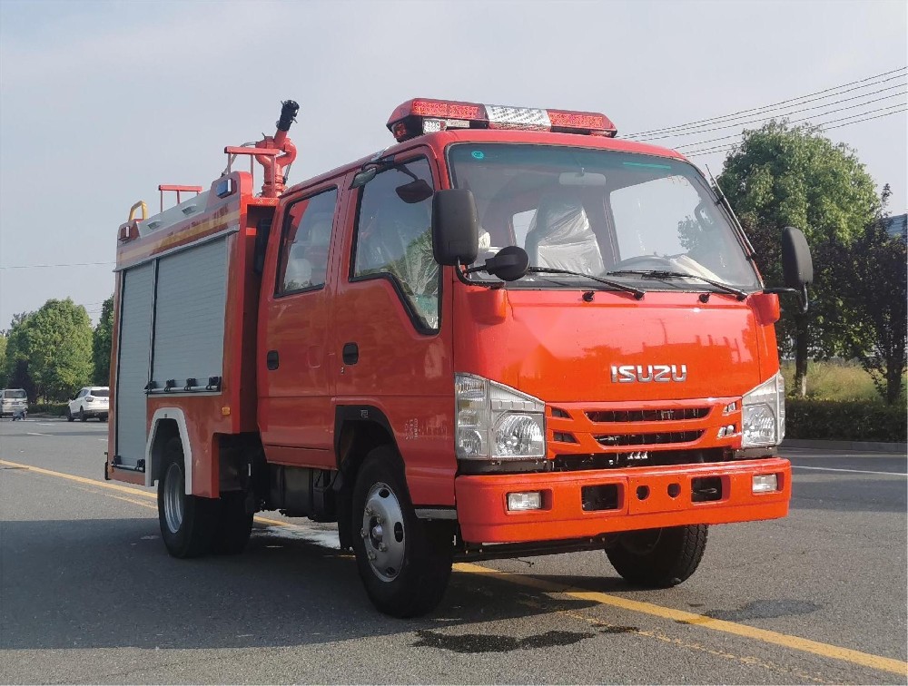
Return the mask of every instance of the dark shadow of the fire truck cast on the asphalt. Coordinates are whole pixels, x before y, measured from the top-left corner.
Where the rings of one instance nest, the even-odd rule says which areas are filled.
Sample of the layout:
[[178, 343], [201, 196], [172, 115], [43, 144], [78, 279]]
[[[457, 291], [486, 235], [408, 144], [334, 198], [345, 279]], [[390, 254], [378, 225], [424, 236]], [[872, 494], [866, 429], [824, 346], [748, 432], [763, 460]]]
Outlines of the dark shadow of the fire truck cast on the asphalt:
[[[443, 640], [437, 630], [448, 626], [592, 604], [454, 573], [434, 613], [394, 619], [372, 607], [352, 555], [273, 528], [253, 533], [241, 555], [176, 560], [152, 518], [4, 522], [0, 649], [300, 646], [408, 632], [418, 632], [421, 643], [414, 645], [434, 645]], [[587, 633], [539, 641], [583, 638]], [[459, 652], [535, 645], [493, 639], [499, 640], [487, 645], [474, 636], [472, 647], [466, 642]]]

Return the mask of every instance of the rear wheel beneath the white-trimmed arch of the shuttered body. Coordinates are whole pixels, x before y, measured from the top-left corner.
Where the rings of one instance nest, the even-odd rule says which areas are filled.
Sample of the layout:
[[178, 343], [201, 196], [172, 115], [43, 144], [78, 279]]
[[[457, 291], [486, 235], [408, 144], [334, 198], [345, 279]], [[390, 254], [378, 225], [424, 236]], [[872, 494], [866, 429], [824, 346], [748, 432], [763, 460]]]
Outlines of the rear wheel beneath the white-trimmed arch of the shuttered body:
[[158, 523], [167, 552], [173, 557], [198, 557], [212, 547], [218, 501], [186, 495], [183, 445], [172, 438], [164, 449], [158, 479]]

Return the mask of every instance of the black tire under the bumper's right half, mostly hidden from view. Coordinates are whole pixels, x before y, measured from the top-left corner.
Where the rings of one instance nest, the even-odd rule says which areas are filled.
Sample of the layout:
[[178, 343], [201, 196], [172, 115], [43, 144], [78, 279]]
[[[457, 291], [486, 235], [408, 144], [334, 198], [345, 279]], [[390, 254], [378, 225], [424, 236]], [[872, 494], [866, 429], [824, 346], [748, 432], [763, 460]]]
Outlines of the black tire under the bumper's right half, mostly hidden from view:
[[706, 524], [646, 529], [622, 534], [607, 548], [608, 562], [628, 582], [669, 588], [696, 572], [706, 550]]

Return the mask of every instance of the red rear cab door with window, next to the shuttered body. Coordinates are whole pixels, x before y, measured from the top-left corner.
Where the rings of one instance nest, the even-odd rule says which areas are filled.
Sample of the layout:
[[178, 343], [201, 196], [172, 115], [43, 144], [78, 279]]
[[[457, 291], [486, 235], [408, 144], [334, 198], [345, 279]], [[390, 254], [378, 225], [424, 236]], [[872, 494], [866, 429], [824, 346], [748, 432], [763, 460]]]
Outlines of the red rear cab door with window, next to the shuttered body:
[[331, 242], [337, 181], [285, 201], [262, 274], [259, 427], [270, 462], [332, 466]]

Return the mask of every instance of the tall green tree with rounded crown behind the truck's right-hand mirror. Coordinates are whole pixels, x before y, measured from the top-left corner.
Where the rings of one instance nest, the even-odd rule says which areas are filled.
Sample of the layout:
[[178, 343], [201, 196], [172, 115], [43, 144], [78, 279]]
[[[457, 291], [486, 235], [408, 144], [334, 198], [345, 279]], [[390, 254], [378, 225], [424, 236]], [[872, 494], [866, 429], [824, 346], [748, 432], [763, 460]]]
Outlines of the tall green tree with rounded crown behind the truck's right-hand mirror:
[[814, 253], [811, 309], [785, 309], [777, 328], [779, 346], [795, 353], [795, 387], [806, 395], [810, 358], [839, 354], [860, 337], [858, 324], [843, 317], [843, 275], [827, 254], [850, 246], [880, 209], [875, 184], [854, 152], [810, 126], [769, 122], [745, 131], [725, 159], [718, 184], [754, 244], [767, 285], [781, 285], [781, 234], [804, 230]]

